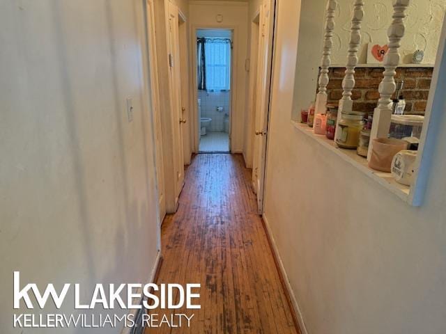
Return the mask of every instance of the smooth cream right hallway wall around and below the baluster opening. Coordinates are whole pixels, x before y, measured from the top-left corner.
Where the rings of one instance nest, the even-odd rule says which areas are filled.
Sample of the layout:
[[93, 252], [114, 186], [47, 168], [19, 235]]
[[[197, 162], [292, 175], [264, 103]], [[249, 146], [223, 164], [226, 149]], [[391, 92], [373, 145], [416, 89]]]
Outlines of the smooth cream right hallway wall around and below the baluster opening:
[[[295, 130], [294, 82], [310, 79], [291, 70], [299, 13], [300, 1], [279, 0], [265, 212], [308, 333], [445, 333], [446, 120], [422, 207]], [[315, 36], [307, 48], [318, 52], [310, 29], [301, 33]]]

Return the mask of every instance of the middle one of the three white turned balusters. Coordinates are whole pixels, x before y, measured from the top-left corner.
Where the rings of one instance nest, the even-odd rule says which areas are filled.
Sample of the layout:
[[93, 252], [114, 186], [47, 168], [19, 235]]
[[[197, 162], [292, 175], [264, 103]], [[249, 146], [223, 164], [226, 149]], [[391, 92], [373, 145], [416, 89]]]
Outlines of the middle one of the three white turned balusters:
[[351, 91], [355, 87], [355, 67], [357, 65], [357, 49], [361, 42], [361, 22], [364, 17], [364, 1], [356, 0], [353, 7], [353, 17], [351, 19], [351, 35], [348, 44], [348, 56], [346, 65], [346, 75], [342, 80], [342, 98], [339, 100], [338, 121], [341, 118], [342, 111], [353, 110], [353, 100], [351, 100]]

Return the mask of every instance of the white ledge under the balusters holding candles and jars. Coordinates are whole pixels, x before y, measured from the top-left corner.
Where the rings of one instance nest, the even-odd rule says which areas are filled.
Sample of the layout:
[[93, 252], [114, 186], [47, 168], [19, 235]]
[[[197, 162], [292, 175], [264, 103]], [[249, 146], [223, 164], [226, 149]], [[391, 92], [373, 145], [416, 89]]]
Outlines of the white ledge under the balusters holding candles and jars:
[[323, 147], [327, 148], [338, 157], [341, 157], [341, 159], [344, 159], [344, 161], [348, 162], [348, 164], [351, 164], [372, 180], [375, 180], [386, 189], [390, 190], [392, 193], [401, 198], [401, 200], [409, 202], [410, 186], [399, 184], [394, 180], [390, 173], [380, 172], [369, 168], [369, 166], [367, 166], [367, 159], [357, 155], [356, 150], [338, 148], [334, 141], [331, 141], [323, 135], [314, 134], [313, 129], [308, 127], [306, 124], [296, 122], [295, 120], [291, 120], [291, 123], [296, 129], [298, 129], [298, 131], [302, 132], [302, 134], [313, 138], [315, 141], [323, 145]]

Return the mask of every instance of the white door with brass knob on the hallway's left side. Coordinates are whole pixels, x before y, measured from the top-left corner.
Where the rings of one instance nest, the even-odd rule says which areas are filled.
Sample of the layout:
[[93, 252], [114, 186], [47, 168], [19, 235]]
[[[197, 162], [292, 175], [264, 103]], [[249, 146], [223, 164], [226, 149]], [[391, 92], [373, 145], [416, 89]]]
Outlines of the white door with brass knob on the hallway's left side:
[[176, 172], [176, 202], [184, 184], [184, 158], [183, 158], [183, 119], [181, 111], [181, 81], [180, 81], [180, 48], [178, 38], [178, 7], [169, 3], [169, 68], [171, 113], [174, 137], [174, 164]]

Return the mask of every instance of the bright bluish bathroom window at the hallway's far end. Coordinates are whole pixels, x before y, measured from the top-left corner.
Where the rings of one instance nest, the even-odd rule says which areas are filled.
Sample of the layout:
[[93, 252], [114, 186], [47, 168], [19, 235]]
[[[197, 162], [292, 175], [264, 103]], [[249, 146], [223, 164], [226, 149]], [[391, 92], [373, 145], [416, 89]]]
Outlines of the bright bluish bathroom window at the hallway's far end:
[[229, 38], [206, 38], [206, 90], [229, 90], [231, 88], [231, 40]]

